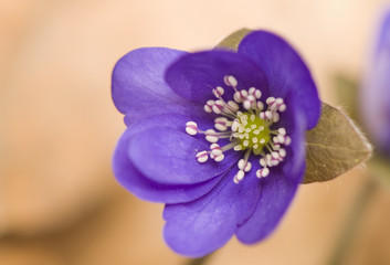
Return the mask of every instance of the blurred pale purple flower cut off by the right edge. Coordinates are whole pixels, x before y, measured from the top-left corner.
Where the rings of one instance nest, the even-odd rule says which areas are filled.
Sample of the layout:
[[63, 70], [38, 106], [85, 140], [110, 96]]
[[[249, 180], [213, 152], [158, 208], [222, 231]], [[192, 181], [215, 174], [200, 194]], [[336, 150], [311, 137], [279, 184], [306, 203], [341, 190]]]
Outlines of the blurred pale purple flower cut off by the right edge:
[[361, 116], [378, 150], [390, 155], [390, 9], [381, 23], [360, 91]]

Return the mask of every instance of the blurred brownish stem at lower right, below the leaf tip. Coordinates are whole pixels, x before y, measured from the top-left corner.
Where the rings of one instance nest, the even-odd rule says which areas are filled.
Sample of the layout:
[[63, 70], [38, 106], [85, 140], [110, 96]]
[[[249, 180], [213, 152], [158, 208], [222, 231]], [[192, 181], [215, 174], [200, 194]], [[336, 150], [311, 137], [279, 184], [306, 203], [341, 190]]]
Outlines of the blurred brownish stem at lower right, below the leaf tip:
[[329, 263], [327, 264], [345, 264], [349, 248], [356, 239], [358, 225], [365, 215], [363, 213], [367, 210], [369, 201], [372, 199], [372, 195], [376, 193], [378, 188], [379, 186], [377, 178], [369, 176], [368, 180], [362, 184], [360, 192], [354, 201], [351, 211], [347, 216], [347, 220], [341, 229], [340, 236], [335, 244]]

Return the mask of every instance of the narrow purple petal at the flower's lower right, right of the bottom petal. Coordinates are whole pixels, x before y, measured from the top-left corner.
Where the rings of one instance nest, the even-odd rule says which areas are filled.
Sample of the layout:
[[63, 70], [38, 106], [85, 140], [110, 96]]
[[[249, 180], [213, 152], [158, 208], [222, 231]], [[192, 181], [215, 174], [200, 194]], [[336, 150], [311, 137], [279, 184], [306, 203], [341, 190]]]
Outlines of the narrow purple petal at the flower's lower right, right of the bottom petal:
[[241, 242], [259, 242], [275, 229], [294, 198], [304, 171], [305, 165], [302, 165], [296, 176], [286, 178], [281, 169], [272, 169], [270, 176], [262, 179], [262, 194], [256, 210], [236, 231]]

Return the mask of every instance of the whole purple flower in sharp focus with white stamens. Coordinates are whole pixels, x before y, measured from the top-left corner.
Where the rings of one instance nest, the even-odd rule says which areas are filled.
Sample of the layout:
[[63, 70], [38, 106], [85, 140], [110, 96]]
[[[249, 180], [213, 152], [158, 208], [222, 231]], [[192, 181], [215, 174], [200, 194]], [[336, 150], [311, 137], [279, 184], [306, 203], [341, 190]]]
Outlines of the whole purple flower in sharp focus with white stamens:
[[305, 172], [305, 131], [320, 115], [307, 66], [265, 31], [238, 53], [135, 50], [115, 66], [113, 98], [128, 126], [115, 176], [166, 203], [165, 240], [187, 256], [275, 229]]

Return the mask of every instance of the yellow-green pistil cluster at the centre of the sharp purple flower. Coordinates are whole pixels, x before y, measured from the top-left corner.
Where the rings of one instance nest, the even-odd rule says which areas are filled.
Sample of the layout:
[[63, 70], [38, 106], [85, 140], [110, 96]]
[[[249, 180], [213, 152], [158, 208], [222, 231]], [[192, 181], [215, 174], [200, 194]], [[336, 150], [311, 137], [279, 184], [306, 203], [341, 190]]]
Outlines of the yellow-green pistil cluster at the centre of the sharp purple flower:
[[240, 126], [233, 132], [233, 137], [240, 141], [238, 150], [251, 148], [255, 155], [260, 155], [271, 140], [267, 121], [251, 113], [239, 113], [238, 118]]

